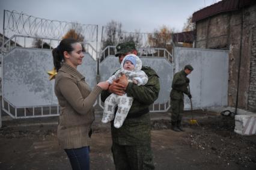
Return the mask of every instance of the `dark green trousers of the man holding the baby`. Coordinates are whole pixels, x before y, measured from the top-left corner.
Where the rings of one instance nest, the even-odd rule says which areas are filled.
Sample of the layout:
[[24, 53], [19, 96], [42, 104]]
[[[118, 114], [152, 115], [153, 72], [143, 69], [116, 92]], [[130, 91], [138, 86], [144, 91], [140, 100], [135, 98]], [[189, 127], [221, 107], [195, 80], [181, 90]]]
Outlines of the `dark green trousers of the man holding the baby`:
[[116, 170], [154, 169], [150, 144], [118, 145], [113, 142], [111, 150]]

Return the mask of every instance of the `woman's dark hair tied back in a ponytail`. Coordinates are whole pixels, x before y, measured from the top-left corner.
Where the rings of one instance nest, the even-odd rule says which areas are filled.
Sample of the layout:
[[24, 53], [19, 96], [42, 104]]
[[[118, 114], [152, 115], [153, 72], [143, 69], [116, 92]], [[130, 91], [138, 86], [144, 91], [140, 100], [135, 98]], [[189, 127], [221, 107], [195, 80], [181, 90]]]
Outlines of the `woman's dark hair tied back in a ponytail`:
[[61, 62], [64, 61], [64, 52], [71, 53], [74, 50], [73, 44], [75, 43], [79, 43], [79, 41], [73, 38], [65, 38], [52, 50], [53, 64], [57, 72], [61, 68]]

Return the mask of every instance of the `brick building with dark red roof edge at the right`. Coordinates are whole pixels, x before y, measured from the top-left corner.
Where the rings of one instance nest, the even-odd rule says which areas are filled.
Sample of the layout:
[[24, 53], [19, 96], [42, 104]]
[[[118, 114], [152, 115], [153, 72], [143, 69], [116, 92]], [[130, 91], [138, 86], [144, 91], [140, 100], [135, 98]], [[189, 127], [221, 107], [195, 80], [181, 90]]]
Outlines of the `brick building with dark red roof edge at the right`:
[[[256, 1], [223, 0], [196, 11], [195, 47], [229, 54], [228, 105], [256, 112]], [[239, 93], [237, 98], [237, 91]]]

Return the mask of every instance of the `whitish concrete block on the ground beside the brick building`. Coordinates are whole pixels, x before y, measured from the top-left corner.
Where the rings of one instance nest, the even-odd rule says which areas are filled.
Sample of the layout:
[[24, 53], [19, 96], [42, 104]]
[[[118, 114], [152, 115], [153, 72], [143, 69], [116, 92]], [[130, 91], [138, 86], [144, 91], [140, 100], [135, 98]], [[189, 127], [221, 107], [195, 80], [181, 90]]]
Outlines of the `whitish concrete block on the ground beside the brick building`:
[[256, 135], [256, 114], [236, 115], [234, 132], [240, 135]]

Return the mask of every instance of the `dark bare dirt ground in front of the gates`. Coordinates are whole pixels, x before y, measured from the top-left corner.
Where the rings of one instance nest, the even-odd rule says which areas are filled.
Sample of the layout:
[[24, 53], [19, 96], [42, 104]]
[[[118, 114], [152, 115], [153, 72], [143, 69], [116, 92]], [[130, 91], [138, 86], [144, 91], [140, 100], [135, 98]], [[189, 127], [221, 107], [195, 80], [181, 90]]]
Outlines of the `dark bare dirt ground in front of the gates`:
[[[199, 126], [186, 132], [170, 129], [169, 113], [151, 114], [156, 169], [256, 169], [256, 136], [234, 133], [234, 118], [197, 111]], [[109, 124], [96, 117], [91, 145], [91, 169], [115, 169]], [[0, 169], [71, 169], [56, 139], [57, 117], [4, 121], [0, 129]]]

